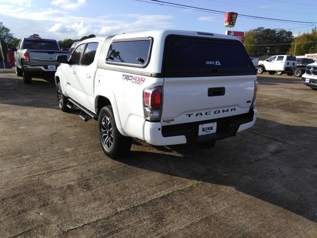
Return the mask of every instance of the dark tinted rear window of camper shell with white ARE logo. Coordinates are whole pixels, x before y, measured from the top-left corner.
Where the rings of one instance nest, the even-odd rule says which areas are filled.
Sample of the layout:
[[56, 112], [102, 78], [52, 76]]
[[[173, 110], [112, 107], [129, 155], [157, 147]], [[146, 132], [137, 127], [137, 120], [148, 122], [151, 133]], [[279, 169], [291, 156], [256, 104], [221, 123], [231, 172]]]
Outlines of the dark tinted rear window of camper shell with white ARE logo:
[[238, 40], [168, 36], [165, 40], [165, 77], [255, 75], [243, 44]]

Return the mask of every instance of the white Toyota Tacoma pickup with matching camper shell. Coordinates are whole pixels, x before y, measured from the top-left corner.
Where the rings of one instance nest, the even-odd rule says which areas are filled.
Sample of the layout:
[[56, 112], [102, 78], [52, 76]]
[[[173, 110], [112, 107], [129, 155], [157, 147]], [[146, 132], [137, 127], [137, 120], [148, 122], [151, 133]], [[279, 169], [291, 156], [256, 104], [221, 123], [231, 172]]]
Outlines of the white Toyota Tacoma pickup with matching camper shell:
[[126, 155], [133, 137], [210, 148], [256, 122], [256, 70], [234, 36], [153, 30], [90, 38], [57, 61], [60, 109], [79, 107], [83, 120], [98, 120], [111, 158]]

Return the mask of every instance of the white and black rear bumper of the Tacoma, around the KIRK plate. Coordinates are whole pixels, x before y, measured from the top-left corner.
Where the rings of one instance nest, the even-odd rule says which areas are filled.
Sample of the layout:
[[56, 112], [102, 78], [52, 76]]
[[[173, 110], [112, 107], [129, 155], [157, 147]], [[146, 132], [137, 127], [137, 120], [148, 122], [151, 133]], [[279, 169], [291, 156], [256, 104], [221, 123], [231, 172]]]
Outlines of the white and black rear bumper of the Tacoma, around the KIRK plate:
[[[176, 145], [185, 143], [209, 143], [235, 136], [237, 132], [254, 125], [257, 110], [250, 109], [249, 113], [218, 118], [214, 120], [191, 122], [177, 125], [162, 126], [160, 122], [145, 122], [145, 141], [152, 145]], [[217, 122], [216, 133], [198, 136], [198, 125]]]

